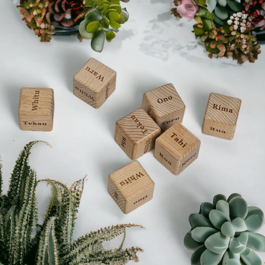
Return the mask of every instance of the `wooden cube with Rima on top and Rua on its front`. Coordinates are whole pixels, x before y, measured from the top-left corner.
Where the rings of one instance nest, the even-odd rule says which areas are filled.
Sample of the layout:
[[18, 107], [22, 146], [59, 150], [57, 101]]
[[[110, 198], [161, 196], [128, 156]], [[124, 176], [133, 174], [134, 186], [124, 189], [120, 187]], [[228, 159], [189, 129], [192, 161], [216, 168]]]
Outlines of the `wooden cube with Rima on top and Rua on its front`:
[[204, 114], [202, 133], [232, 140], [241, 99], [211, 93]]

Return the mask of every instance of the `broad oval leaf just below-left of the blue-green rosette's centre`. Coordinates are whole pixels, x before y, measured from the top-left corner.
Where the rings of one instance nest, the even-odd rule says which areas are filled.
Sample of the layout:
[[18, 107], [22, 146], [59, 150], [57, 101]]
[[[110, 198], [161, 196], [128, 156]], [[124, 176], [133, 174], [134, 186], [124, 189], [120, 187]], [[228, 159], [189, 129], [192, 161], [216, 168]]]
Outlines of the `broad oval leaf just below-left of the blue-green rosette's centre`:
[[228, 249], [229, 241], [230, 237], [226, 237], [221, 232], [218, 232], [208, 237], [204, 245], [215, 254], [223, 254]]

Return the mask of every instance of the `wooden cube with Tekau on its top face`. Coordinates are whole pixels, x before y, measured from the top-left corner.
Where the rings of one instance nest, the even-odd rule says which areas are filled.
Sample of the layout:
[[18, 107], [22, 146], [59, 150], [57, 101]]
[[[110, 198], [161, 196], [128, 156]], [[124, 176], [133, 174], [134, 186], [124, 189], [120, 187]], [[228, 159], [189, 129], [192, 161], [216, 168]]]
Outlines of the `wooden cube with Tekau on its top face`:
[[114, 139], [123, 151], [135, 160], [155, 147], [159, 126], [139, 108], [116, 122]]

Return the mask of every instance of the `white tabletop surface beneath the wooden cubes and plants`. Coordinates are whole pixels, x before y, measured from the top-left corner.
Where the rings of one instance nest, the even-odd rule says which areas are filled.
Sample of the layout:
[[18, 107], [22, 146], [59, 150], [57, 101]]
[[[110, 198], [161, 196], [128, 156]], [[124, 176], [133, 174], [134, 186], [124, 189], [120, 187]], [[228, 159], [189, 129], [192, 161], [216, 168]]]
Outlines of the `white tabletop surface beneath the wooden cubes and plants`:
[[[102, 53], [79, 43], [76, 36], [53, 37], [41, 43], [29, 30], [10, 0], [1, 1], [0, 24], [0, 154], [4, 193], [19, 152], [33, 140], [30, 165], [39, 179], [51, 178], [71, 185], [85, 181], [74, 237], [101, 227], [135, 223], [127, 229], [125, 246], [139, 246], [139, 264], [190, 264], [192, 251], [183, 238], [189, 214], [214, 195], [240, 193], [249, 206], [265, 211], [264, 200], [264, 61], [265, 46], [254, 64], [207, 57], [197, 46], [192, 21], [170, 16], [172, 0], [131, 0], [130, 19], [122, 25]], [[73, 95], [72, 78], [90, 59], [117, 71], [115, 92], [94, 109]], [[145, 91], [172, 83], [186, 105], [183, 125], [201, 140], [199, 157], [180, 175], [172, 175], [153, 151], [138, 161], [155, 182], [153, 199], [125, 215], [107, 190], [108, 175], [131, 160], [114, 141], [115, 122], [140, 108]], [[55, 113], [51, 132], [19, 129], [18, 103], [22, 87], [53, 88]], [[234, 139], [201, 133], [211, 92], [240, 98]], [[50, 188], [37, 189], [39, 219], [49, 203]], [[261, 229], [265, 234], [265, 228]], [[121, 241], [122, 238], [119, 238]], [[115, 247], [111, 243], [107, 246]], [[260, 254], [262, 261], [265, 255]], [[128, 264], [134, 264], [130, 261]]]

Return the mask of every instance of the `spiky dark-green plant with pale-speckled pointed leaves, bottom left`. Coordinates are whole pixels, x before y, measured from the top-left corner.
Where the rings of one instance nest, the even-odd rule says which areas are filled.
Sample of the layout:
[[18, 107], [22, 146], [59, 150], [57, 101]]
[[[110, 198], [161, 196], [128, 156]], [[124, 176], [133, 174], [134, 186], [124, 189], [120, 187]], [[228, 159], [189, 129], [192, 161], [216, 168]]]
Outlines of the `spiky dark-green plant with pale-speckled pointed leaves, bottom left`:
[[[28, 165], [33, 144], [20, 153], [11, 175], [9, 190], [2, 195], [0, 164], [0, 265], [122, 265], [138, 261], [138, 247], [122, 249], [125, 228], [139, 226], [124, 224], [91, 232], [73, 241], [76, 214], [83, 192], [84, 179], [73, 183], [70, 189], [55, 180], [37, 180]], [[37, 222], [36, 187], [44, 181], [51, 185], [52, 199], [44, 222]], [[36, 227], [36, 236], [32, 230]], [[142, 226], [140, 226], [142, 227]], [[124, 234], [119, 248], [105, 250], [102, 242]]]

